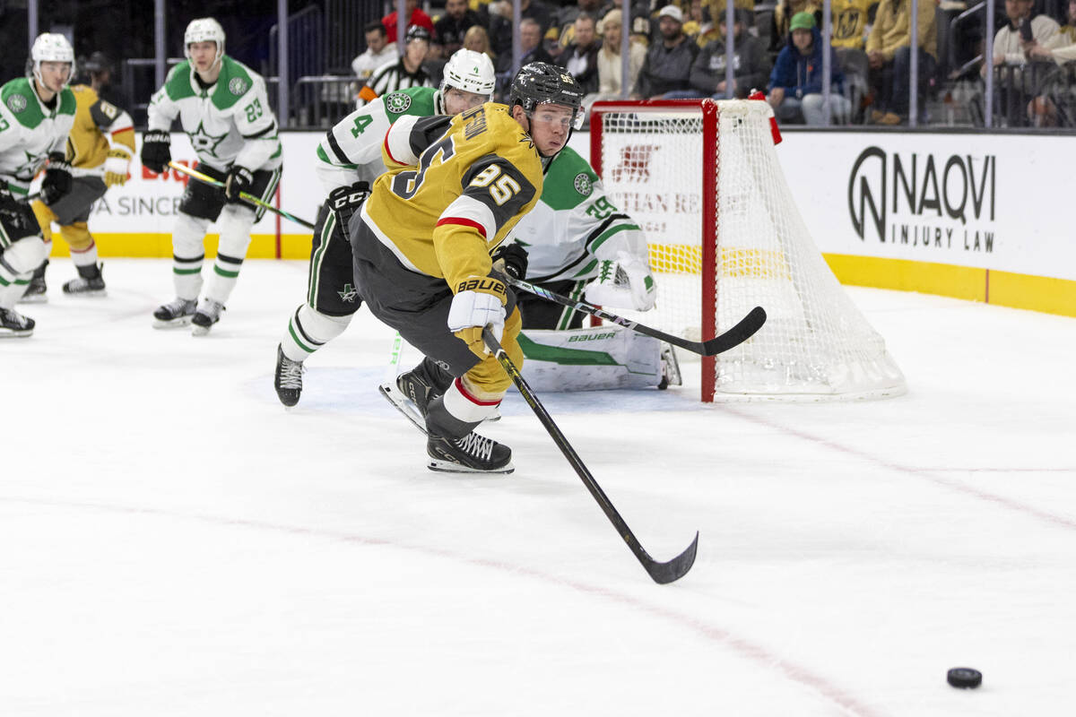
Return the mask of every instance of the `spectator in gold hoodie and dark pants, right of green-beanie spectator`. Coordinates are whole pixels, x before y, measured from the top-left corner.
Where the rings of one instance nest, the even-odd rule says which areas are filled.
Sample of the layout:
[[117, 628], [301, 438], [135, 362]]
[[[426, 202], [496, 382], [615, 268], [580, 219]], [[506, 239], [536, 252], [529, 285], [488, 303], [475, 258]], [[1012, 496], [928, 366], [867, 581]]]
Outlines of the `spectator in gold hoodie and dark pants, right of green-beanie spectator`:
[[[919, 2], [917, 92], [920, 111], [923, 109], [926, 87], [937, 70], [937, 29], [934, 11], [935, 5], [930, 0]], [[877, 124], [900, 125], [908, 118], [908, 95], [911, 89], [910, 44], [911, 0], [881, 0], [866, 43], [876, 105], [870, 117]]]

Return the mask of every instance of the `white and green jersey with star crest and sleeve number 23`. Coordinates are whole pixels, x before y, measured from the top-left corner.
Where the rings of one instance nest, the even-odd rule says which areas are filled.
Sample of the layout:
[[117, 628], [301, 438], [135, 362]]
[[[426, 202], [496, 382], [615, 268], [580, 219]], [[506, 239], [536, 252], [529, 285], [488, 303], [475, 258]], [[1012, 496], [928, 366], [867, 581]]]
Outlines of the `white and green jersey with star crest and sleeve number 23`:
[[227, 55], [221, 58], [216, 83], [206, 88], [190, 62], [172, 68], [165, 86], [154, 92], [148, 116], [151, 130], [166, 132], [179, 117], [198, 160], [222, 172], [232, 164], [272, 170], [283, 159], [265, 80]]

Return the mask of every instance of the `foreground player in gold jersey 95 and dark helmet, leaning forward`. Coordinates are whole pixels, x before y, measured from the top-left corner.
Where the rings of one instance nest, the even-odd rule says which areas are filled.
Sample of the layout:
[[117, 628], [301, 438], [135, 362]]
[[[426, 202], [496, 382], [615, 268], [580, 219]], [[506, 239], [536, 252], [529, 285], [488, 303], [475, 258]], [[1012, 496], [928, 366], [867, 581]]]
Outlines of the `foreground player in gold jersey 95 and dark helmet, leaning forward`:
[[507, 446], [473, 432], [511, 385], [482, 329], [523, 361], [515, 297], [492, 255], [538, 201], [543, 162], [580, 124], [582, 97], [562, 69], [527, 64], [510, 106], [398, 119], [383, 145], [390, 171], [359, 212], [348, 188], [329, 197], [349, 229], [359, 296], [426, 357], [397, 386], [425, 418], [433, 470], [513, 470]]

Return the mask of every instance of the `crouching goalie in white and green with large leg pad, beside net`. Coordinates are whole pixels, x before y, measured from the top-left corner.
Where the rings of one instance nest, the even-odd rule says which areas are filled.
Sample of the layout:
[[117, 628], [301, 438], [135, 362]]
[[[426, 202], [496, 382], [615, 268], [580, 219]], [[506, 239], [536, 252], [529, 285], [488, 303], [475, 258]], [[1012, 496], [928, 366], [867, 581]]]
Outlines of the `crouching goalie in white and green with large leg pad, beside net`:
[[[605, 195], [579, 153], [546, 169], [541, 199], [512, 231], [527, 281], [610, 309], [649, 311], [655, 286], [647, 239]], [[511, 252], [511, 245], [501, 249]], [[535, 390], [666, 388], [680, 383], [672, 347], [620, 326], [582, 328], [584, 314], [521, 291], [527, 382]]]

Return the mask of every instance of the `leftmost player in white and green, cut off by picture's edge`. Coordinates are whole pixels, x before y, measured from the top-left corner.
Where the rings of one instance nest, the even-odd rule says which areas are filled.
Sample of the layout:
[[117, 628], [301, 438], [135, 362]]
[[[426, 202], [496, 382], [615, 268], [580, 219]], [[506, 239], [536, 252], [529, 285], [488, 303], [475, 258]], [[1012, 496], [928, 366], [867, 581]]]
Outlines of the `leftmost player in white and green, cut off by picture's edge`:
[[26, 199], [46, 160], [42, 199], [52, 203], [71, 190], [66, 160], [75, 113], [68, 88], [74, 74], [71, 43], [61, 34], [39, 35], [29, 67], [28, 76], [0, 88], [0, 338], [33, 333], [33, 319], [14, 306], [48, 255], [33, 211], [18, 200]]

